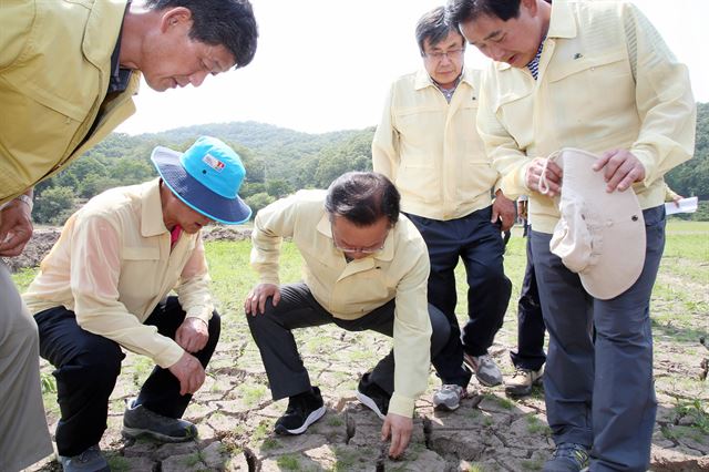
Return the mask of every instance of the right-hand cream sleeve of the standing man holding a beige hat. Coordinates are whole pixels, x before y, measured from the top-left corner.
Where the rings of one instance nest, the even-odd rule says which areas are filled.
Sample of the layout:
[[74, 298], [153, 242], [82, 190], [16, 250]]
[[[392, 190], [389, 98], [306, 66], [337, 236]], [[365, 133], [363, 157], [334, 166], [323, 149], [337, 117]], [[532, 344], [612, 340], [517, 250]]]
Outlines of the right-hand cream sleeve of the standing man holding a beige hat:
[[649, 186], [693, 154], [697, 105], [687, 66], [631, 3], [625, 6], [624, 23], [643, 122], [630, 152], [645, 166], [643, 183]]

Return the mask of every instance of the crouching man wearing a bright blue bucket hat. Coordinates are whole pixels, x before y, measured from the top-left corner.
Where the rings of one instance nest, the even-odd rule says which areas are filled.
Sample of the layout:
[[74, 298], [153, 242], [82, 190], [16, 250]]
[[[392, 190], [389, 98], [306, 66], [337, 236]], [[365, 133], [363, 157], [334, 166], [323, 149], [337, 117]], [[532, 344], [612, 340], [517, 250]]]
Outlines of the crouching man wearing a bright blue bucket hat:
[[[104, 192], [72, 215], [24, 294], [40, 355], [56, 370], [56, 449], [65, 471], [109, 470], [99, 441], [125, 357], [156, 367], [123, 417], [124, 435], [187, 441], [181, 419], [219, 338], [201, 229], [238, 224], [239, 156], [214, 137], [185, 153], [156, 147], [160, 178]], [[177, 296], [168, 296], [171, 290]]]

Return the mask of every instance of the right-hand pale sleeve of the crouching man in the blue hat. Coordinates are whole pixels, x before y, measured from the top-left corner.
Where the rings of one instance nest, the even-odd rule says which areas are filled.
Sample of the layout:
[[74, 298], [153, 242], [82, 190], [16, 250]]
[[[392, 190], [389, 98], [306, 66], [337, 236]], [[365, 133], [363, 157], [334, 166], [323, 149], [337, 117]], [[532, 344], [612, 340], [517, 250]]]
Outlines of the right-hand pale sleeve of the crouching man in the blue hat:
[[209, 280], [204, 243], [199, 233], [192, 256], [179, 275], [175, 291], [182, 309], [186, 312], [186, 318], [199, 318], [207, 325], [214, 311]]

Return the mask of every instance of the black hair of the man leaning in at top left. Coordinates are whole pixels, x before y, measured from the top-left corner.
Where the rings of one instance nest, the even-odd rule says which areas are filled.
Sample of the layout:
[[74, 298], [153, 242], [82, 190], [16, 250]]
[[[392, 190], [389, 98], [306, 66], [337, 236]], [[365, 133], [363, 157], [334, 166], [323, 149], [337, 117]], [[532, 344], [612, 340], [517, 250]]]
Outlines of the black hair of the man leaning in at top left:
[[225, 47], [236, 68], [247, 65], [256, 53], [258, 27], [248, 0], [146, 0], [151, 10], [184, 7], [192, 12], [189, 38]]

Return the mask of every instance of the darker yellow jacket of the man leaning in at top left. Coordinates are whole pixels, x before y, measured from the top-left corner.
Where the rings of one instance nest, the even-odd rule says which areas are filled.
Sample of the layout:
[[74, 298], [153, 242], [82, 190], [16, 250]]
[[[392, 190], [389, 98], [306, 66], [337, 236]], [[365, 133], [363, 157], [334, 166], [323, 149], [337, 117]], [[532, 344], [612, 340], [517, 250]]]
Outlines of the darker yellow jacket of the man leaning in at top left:
[[106, 98], [126, 0], [13, 2], [0, 33], [0, 204], [50, 177], [134, 111], [141, 73]]

